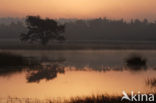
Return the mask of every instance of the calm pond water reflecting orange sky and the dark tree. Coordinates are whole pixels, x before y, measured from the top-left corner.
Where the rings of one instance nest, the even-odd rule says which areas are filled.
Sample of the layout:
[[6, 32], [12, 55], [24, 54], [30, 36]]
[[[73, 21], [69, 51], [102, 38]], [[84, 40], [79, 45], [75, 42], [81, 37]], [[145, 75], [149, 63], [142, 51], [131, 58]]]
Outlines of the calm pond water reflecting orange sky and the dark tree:
[[[9, 51], [33, 57], [40, 66], [13, 68], [0, 73], [0, 98], [57, 99], [98, 94], [122, 95], [122, 91], [153, 92], [147, 81], [156, 78], [154, 50]], [[147, 59], [147, 68], [131, 69], [131, 54]], [[15, 68], [15, 69], [14, 69]], [[35, 68], [35, 69], [34, 69]]]

